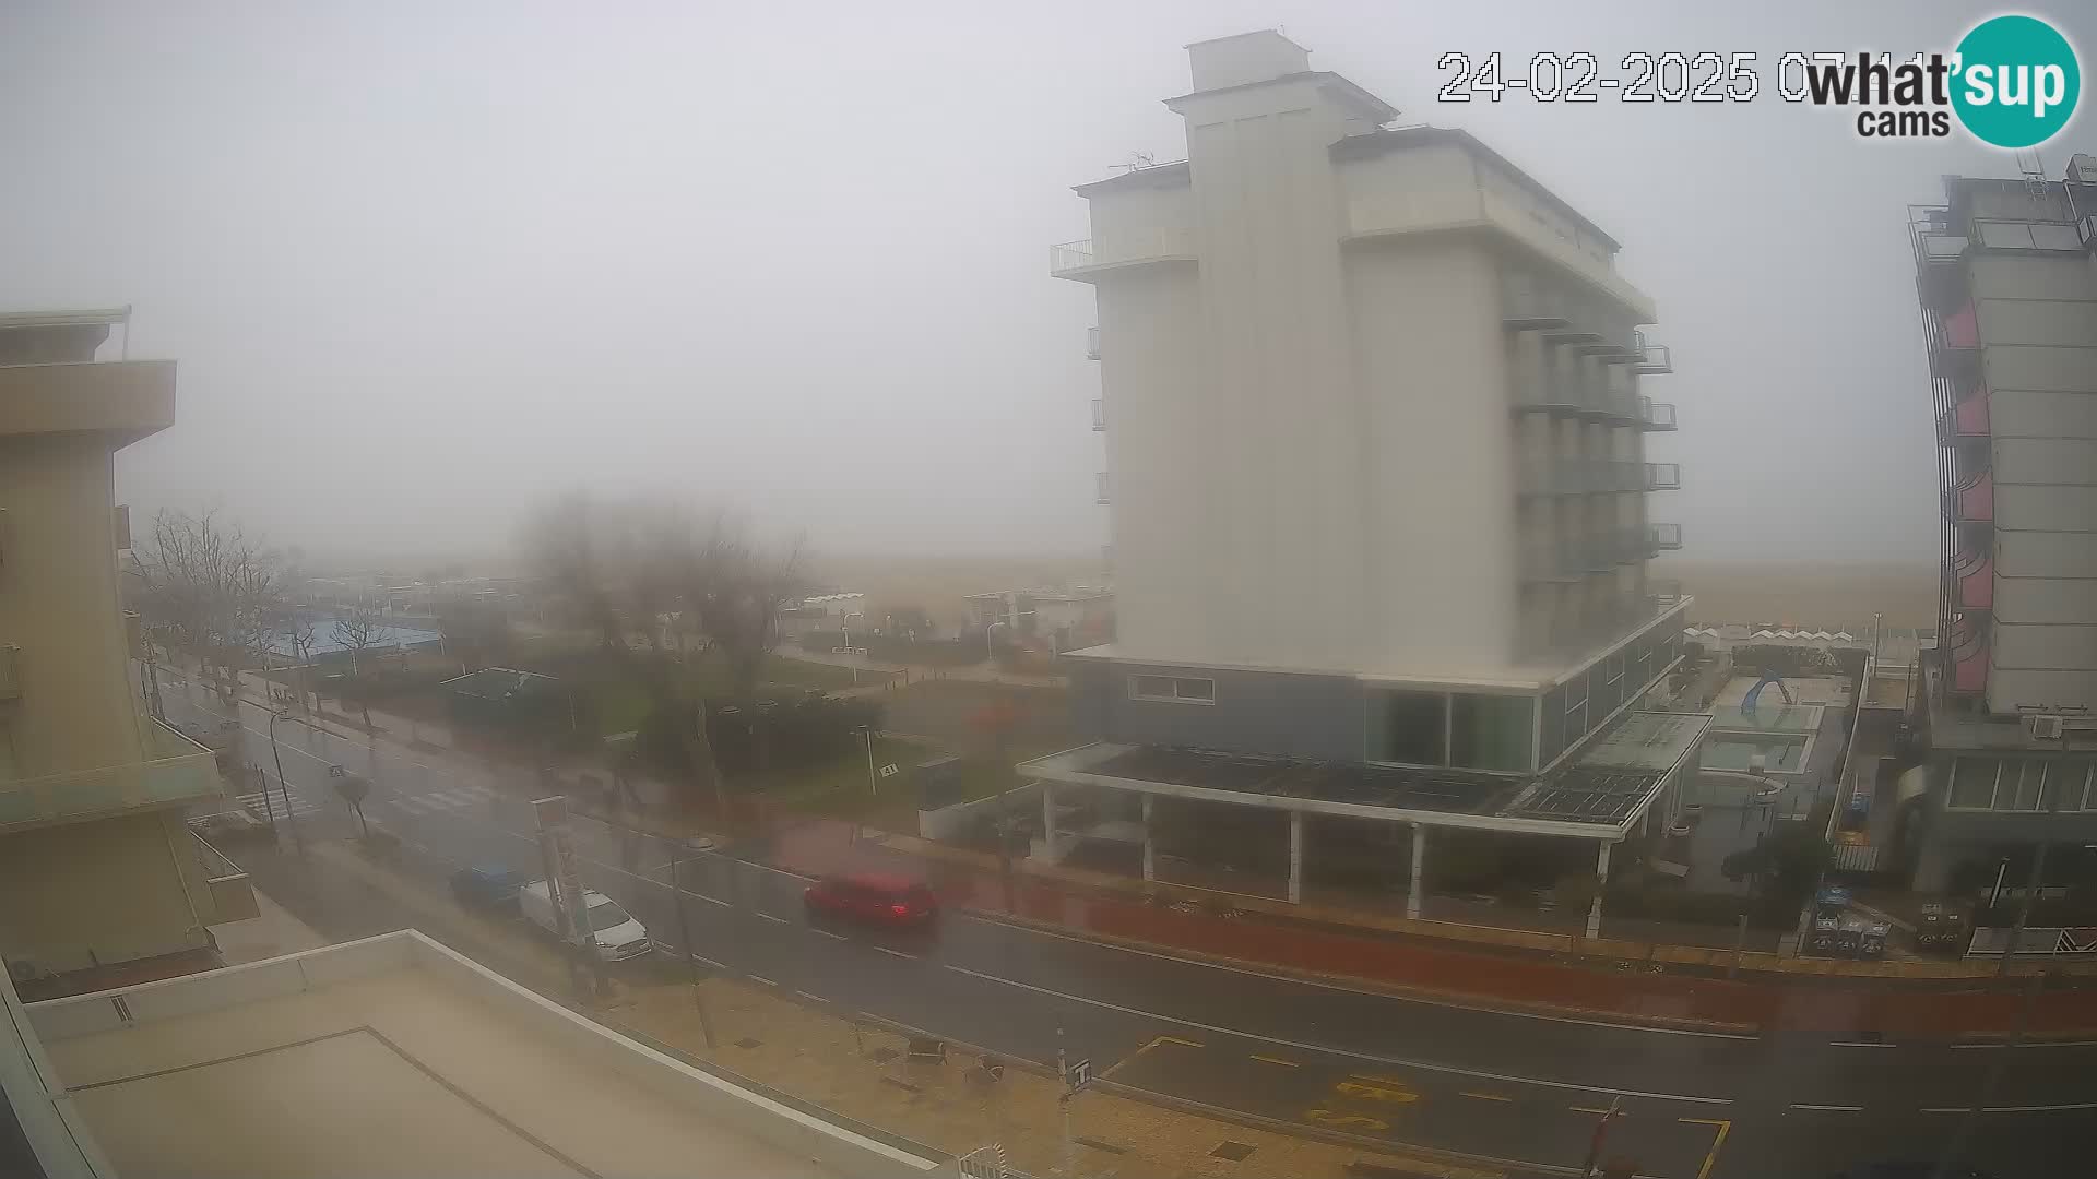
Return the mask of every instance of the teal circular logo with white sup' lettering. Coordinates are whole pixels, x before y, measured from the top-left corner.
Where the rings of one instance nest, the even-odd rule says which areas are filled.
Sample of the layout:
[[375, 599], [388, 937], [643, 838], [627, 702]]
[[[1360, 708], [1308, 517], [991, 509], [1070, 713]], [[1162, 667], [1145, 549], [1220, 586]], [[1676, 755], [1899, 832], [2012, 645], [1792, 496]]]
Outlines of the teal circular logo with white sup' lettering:
[[1992, 17], [1959, 42], [1952, 109], [1982, 143], [2038, 147], [2068, 126], [2080, 97], [2074, 46], [2036, 17]]

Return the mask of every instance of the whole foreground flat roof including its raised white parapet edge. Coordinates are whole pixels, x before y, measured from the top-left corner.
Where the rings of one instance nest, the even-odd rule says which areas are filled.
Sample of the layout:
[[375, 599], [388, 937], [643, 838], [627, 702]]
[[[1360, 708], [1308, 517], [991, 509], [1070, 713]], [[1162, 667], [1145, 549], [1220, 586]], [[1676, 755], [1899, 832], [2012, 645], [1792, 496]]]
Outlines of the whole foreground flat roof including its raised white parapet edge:
[[627, 1041], [411, 929], [27, 1011], [126, 1175], [937, 1166]]

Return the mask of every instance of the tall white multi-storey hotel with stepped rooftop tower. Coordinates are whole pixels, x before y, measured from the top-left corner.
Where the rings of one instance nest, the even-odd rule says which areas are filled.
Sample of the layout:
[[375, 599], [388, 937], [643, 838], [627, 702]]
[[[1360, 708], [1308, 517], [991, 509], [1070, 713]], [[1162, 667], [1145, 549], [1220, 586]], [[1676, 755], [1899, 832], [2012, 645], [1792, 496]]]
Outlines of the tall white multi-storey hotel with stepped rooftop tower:
[[[1109, 464], [1080, 722], [1539, 785], [1676, 663], [1652, 302], [1470, 134], [1388, 126], [1275, 31], [1189, 55], [1187, 159], [1080, 185], [1093, 237], [1051, 252], [1095, 290]], [[1097, 785], [1065, 762], [1040, 772]]]

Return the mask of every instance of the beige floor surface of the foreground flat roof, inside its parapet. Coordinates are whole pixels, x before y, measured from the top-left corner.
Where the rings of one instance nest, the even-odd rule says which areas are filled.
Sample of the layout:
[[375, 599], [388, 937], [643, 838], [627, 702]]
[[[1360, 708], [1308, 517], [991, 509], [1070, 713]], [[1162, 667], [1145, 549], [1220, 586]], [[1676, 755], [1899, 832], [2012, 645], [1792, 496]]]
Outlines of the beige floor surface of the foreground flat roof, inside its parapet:
[[44, 1043], [122, 1175], [841, 1175], [415, 967]]

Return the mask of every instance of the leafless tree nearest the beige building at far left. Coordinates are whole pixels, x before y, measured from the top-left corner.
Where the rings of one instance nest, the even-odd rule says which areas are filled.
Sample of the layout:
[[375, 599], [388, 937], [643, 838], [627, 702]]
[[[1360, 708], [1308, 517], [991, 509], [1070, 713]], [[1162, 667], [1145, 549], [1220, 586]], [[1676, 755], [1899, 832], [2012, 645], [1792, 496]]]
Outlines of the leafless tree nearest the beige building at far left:
[[138, 562], [138, 606], [164, 642], [189, 652], [201, 676], [218, 676], [226, 705], [239, 673], [262, 659], [277, 634], [283, 560], [216, 512], [161, 510]]

